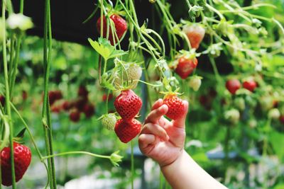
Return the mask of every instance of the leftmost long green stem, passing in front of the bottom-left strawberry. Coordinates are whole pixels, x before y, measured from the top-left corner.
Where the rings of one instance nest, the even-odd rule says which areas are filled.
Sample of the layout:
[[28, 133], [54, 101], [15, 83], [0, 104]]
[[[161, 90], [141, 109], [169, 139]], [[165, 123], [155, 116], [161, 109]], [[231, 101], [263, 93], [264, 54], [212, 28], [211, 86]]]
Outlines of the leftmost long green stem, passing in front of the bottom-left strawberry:
[[[2, 25], [3, 28], [6, 28], [6, 21], [5, 21], [5, 10], [6, 7], [6, 0], [2, 1]], [[11, 176], [12, 176], [12, 186], [13, 189], [16, 188], [16, 176], [15, 176], [15, 166], [13, 161], [13, 122], [11, 116], [11, 107], [10, 107], [10, 89], [9, 89], [9, 77], [8, 77], [8, 65], [7, 65], [7, 52], [6, 52], [6, 30], [2, 30], [2, 38], [3, 38], [3, 63], [4, 63], [4, 77], [5, 77], [5, 91], [6, 91], [6, 110], [9, 119], [9, 126], [10, 126], [10, 158], [11, 158]]]

